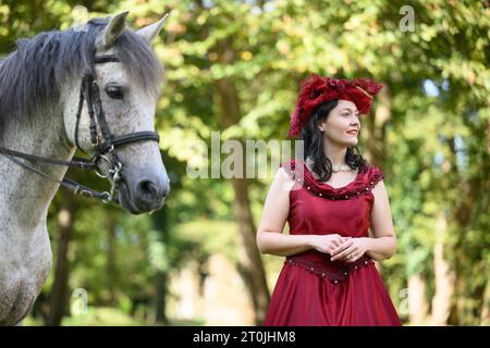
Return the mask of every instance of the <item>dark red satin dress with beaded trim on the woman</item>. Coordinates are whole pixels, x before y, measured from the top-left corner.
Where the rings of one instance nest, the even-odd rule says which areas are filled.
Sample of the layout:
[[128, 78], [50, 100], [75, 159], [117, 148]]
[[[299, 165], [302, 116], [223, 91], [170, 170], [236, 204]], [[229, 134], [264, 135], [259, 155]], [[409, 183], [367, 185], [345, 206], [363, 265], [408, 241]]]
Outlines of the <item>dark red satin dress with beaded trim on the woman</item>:
[[[368, 237], [371, 189], [384, 177], [364, 166], [348, 185], [334, 188], [317, 181], [303, 162], [282, 165], [297, 185], [290, 191], [290, 234]], [[271, 297], [265, 325], [401, 325], [375, 261], [330, 261], [307, 250], [287, 257]]]

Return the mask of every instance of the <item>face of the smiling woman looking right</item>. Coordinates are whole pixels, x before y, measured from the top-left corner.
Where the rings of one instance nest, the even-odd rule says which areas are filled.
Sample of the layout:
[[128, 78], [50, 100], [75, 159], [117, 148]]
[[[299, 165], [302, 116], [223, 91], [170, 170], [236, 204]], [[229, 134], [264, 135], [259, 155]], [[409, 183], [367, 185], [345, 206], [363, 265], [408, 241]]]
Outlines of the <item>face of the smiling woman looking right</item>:
[[356, 105], [348, 100], [339, 100], [339, 104], [330, 111], [327, 120], [319, 124], [319, 128], [323, 129], [324, 136], [331, 142], [342, 147], [357, 146], [360, 122]]

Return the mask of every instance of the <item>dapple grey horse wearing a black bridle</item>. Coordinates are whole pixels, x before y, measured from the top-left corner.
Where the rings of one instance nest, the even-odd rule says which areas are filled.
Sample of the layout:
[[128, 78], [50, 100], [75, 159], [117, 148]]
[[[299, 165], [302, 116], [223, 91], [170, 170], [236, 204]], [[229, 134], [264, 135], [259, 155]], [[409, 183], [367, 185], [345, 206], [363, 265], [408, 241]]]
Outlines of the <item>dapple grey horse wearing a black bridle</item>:
[[126, 14], [22, 39], [0, 61], [2, 325], [27, 315], [51, 269], [47, 212], [66, 166], [42, 159], [93, 153], [111, 192], [63, 185], [134, 214], [160, 209], [169, 194], [154, 125], [163, 67], [150, 48], [164, 17], [134, 32]]

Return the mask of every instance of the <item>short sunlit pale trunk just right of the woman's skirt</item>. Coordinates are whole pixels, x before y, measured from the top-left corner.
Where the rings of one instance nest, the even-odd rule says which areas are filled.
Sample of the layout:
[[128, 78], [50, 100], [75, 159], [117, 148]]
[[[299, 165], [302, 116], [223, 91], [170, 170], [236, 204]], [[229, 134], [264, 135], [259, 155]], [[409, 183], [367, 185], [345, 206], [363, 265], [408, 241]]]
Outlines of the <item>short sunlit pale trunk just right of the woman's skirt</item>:
[[412, 325], [424, 325], [428, 314], [426, 282], [420, 274], [408, 278], [408, 316]]

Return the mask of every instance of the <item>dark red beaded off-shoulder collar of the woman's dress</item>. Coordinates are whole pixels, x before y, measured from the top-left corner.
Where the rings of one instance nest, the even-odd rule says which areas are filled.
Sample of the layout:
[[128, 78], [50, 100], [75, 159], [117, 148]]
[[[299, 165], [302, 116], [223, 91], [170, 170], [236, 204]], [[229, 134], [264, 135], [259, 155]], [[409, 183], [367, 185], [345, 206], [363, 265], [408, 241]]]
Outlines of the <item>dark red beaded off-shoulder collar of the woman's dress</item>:
[[[298, 171], [299, 165], [303, 165], [303, 171]], [[381, 172], [379, 167], [367, 164], [359, 171], [352, 183], [335, 188], [315, 178], [307, 165], [302, 161], [292, 159], [281, 164], [281, 167], [283, 167], [296, 183], [302, 184], [302, 186], [313, 195], [332, 200], [345, 200], [367, 195], [375, 188], [378, 182], [384, 178], [384, 173]]]

